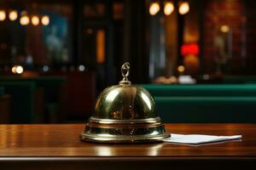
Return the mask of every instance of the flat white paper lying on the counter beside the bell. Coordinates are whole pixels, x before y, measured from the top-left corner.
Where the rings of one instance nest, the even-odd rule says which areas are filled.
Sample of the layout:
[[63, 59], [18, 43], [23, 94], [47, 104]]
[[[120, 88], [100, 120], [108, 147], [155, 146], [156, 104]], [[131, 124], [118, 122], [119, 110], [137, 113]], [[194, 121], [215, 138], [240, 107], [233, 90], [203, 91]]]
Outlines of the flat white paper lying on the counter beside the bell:
[[171, 137], [168, 139], [162, 139], [168, 143], [178, 144], [206, 144], [213, 142], [221, 142], [226, 140], [241, 139], [241, 135], [234, 136], [213, 136], [204, 134], [175, 134], [171, 133]]

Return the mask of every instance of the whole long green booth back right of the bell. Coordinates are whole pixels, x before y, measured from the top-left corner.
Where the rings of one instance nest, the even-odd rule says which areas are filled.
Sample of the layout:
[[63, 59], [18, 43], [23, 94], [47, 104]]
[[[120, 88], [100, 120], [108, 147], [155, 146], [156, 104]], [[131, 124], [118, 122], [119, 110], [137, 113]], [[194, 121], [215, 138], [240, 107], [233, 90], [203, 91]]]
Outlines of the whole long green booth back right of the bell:
[[163, 122], [256, 122], [256, 84], [143, 84]]

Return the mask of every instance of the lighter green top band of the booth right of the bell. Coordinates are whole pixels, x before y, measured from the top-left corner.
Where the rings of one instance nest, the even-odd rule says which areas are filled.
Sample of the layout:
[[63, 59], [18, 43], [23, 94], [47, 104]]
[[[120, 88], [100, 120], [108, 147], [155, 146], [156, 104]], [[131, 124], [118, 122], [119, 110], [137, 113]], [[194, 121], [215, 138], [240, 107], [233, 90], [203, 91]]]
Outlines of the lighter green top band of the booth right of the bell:
[[154, 96], [256, 96], [256, 84], [143, 84]]

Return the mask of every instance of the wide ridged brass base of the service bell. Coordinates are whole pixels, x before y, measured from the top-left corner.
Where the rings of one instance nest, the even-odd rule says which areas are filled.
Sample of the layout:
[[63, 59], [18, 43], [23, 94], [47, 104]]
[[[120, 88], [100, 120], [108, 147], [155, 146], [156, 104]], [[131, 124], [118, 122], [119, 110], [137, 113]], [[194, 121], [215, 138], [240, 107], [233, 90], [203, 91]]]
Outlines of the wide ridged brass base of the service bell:
[[156, 127], [90, 127], [86, 125], [80, 139], [96, 143], [149, 143], [169, 138], [163, 124]]

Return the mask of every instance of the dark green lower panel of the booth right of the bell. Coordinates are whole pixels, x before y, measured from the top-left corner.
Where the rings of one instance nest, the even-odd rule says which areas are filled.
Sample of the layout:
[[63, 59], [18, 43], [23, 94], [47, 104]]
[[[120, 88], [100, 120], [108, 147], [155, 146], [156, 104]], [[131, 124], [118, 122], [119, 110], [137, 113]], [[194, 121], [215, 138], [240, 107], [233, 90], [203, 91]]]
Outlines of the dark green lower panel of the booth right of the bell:
[[256, 97], [155, 97], [163, 122], [256, 122]]

